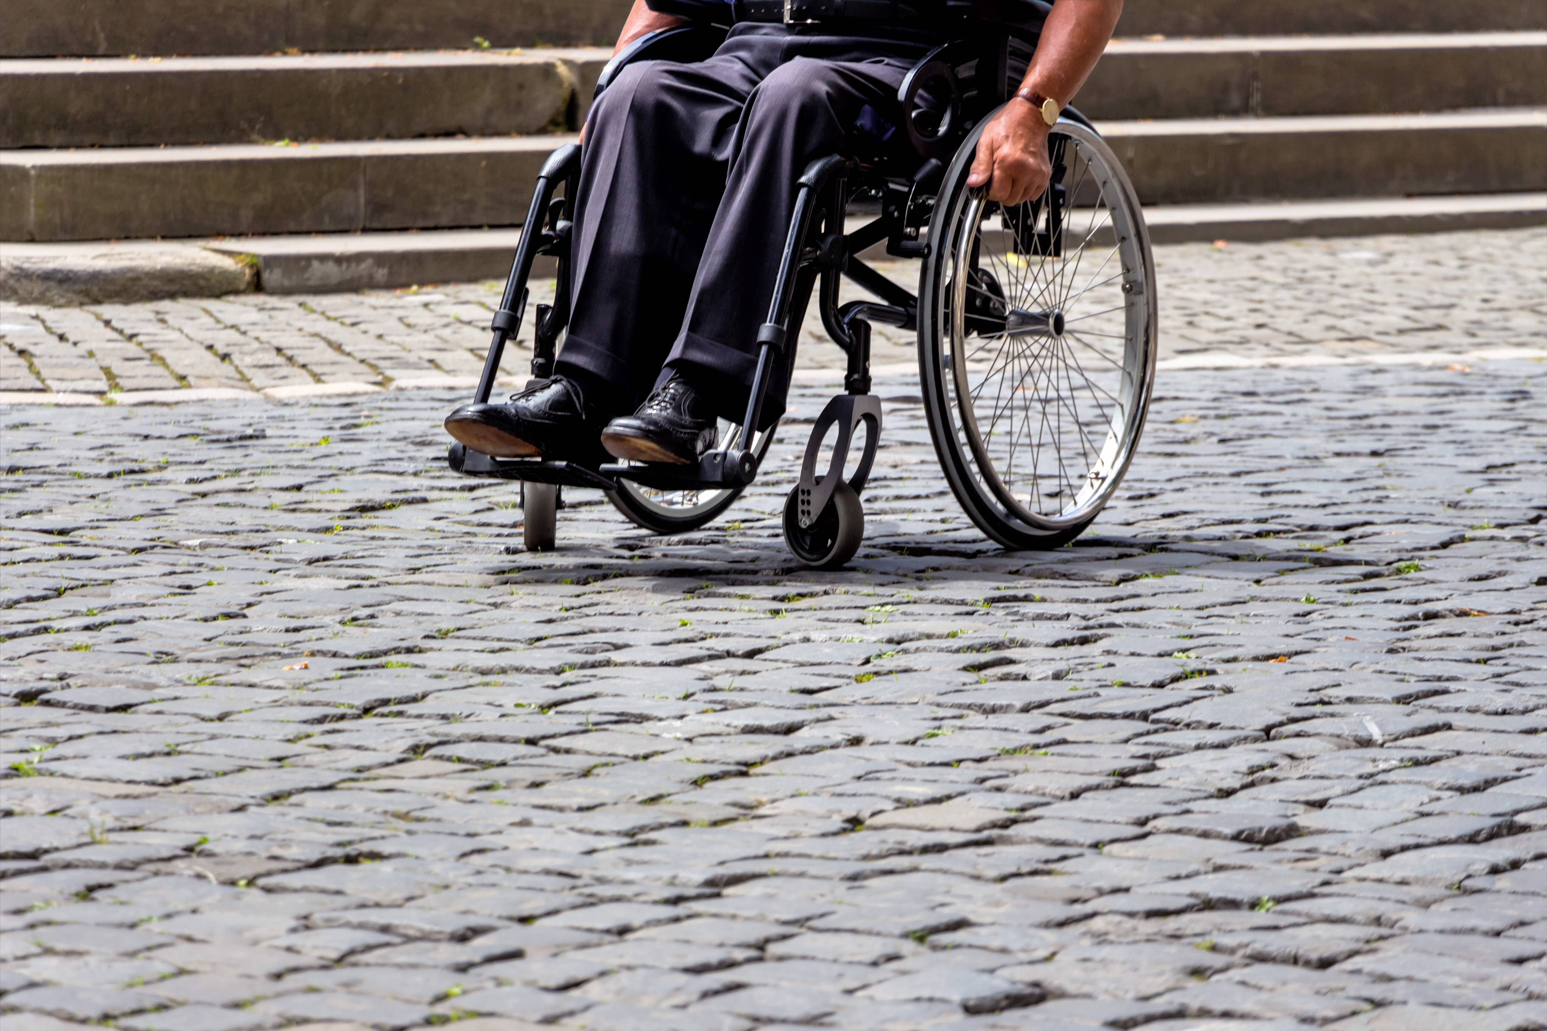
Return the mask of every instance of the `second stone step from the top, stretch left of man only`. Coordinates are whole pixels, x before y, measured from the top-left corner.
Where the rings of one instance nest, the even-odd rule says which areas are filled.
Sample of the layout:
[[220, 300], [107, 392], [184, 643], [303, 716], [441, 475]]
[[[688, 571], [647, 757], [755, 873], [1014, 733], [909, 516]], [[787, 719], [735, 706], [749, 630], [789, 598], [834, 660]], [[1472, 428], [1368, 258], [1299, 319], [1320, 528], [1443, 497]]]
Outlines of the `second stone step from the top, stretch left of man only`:
[[599, 48], [12, 60], [0, 148], [503, 136], [579, 128]]

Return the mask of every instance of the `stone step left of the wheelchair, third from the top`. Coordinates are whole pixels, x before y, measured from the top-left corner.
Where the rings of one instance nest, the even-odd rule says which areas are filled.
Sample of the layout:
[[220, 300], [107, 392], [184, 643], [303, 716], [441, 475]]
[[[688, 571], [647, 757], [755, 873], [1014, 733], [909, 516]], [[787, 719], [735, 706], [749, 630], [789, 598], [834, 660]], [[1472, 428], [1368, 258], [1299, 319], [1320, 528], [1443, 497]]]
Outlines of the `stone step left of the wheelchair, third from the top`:
[[574, 136], [0, 151], [0, 240], [512, 226]]

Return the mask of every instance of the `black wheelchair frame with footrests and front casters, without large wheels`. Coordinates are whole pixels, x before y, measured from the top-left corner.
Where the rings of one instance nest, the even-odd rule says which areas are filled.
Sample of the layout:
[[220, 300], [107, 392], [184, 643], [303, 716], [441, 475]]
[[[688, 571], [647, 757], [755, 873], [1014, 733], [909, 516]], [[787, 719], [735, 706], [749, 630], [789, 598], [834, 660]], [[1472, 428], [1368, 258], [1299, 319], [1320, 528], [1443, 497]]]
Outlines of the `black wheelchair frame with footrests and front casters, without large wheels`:
[[[1046, 14], [1049, 9], [1049, 5], [1038, 0], [1032, 0], [1030, 6], [1040, 14]], [[845, 393], [828, 403], [806, 445], [800, 481], [786, 507], [786, 538], [808, 564], [835, 567], [852, 556], [859, 547], [859, 536], [854, 533], [840, 535], [851, 539], [840, 544], [835, 552], [829, 549], [831, 553], [823, 550], [826, 546], [818, 546], [815, 552], [801, 547], [797, 544], [797, 538], [811, 532], [821, 513], [829, 510], [837, 493], [852, 492], [852, 499], [840, 501], [848, 505], [845, 510], [859, 512], [857, 495], [865, 488], [873, 468], [882, 424], [880, 402], [869, 393], [871, 323], [882, 322], [902, 329], [916, 329], [919, 325], [919, 297], [860, 261], [859, 255], [882, 241], [886, 244], [886, 252], [894, 257], [925, 258], [930, 253], [930, 243], [920, 241], [919, 235], [930, 223], [936, 190], [945, 175], [944, 162], [956, 151], [973, 124], [981, 122], [1006, 102], [1016, 62], [1015, 40], [1019, 40], [1018, 46], [1029, 59], [1030, 51], [1035, 49], [1041, 20], [1038, 17], [1035, 23], [976, 22], [964, 25], [968, 29], [964, 37], [953, 39], [928, 53], [908, 73], [899, 90], [908, 138], [924, 159], [911, 176], [888, 175], [879, 167], [837, 155], [812, 161], [800, 175], [795, 209], [784, 240], [767, 318], [756, 334], [756, 371], [747, 397], [746, 416], [736, 434], [722, 441], [721, 447], [704, 453], [696, 467], [623, 462], [588, 467], [568, 461], [498, 459], [470, 451], [461, 444], [452, 445], [449, 464], [455, 471], [521, 481], [524, 505], [532, 499], [538, 505], [548, 505], [548, 513], [538, 513], [535, 524], [531, 518], [532, 512], [528, 513], [528, 547], [552, 546], [552, 507], [562, 504], [557, 493], [557, 488], [562, 487], [603, 490], [616, 501], [614, 492], [619, 490], [619, 481], [633, 481], [665, 492], [729, 490], [739, 493], [750, 485], [758, 473], [760, 451], [766, 451], [767, 447], [767, 441], [764, 441], [763, 448], [755, 448], [753, 436], [760, 427], [767, 386], [777, 368], [774, 363], [784, 362], [786, 368], [792, 368], [794, 340], [798, 335], [811, 294], [815, 291], [823, 326], [848, 356], [848, 368], [843, 379]], [[597, 94], [628, 63], [684, 59], [695, 54], [702, 57], [705, 51], [712, 53], [718, 46], [716, 40], [722, 37], [724, 34], [718, 29], [693, 25], [642, 37], [608, 63], [597, 83]], [[1021, 66], [1024, 68], [1024, 65]], [[920, 97], [927, 93], [936, 102], [936, 107], [928, 111], [920, 105]], [[944, 110], [937, 105], [941, 97], [945, 100]], [[1089, 121], [1074, 108], [1066, 108], [1064, 117], [1094, 131]], [[1061, 159], [1060, 145], [1060, 153], [1054, 155], [1055, 165]], [[555, 346], [569, 320], [571, 298], [566, 263], [579, 175], [580, 147], [568, 144], [549, 156], [537, 178], [500, 309], [492, 318], [493, 339], [489, 345], [475, 402], [487, 402], [493, 393], [504, 346], [518, 332], [526, 314], [529, 298], [526, 283], [538, 257], [557, 258], [560, 275], [554, 303], [535, 306], [531, 371], [537, 380], [552, 374]], [[1047, 219], [1047, 230], [1035, 244], [1036, 253], [1058, 253], [1063, 246], [1060, 219], [1064, 196], [1058, 179], [1060, 176], [1055, 175], [1046, 201], [1035, 202], [1046, 204]], [[555, 196], [560, 185], [565, 187], [563, 195]], [[848, 204], [857, 196], [879, 199], [880, 215], [854, 232], [845, 232]], [[842, 277], [848, 277], [879, 300], [838, 305]], [[1148, 400], [1148, 393], [1145, 399]], [[854, 473], [845, 482], [842, 470], [849, 458], [854, 431], [862, 425], [866, 428], [863, 450]], [[832, 456], [826, 468], [818, 470], [823, 439], [832, 427], [838, 430]], [[767, 430], [769, 437], [772, 430], [772, 427]], [[843, 485], [840, 487], [840, 484]], [[862, 533], [863, 516], [857, 518]], [[798, 526], [792, 527], [792, 519]], [[639, 519], [636, 518], [636, 521]]]

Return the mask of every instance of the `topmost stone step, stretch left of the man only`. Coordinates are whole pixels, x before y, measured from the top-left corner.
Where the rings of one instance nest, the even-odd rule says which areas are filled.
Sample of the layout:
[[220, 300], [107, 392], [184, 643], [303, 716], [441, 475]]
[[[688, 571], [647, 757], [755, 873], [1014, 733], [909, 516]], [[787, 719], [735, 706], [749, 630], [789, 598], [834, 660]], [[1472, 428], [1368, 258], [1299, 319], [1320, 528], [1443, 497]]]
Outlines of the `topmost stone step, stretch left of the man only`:
[[6, 0], [0, 57], [611, 46], [633, 0]]

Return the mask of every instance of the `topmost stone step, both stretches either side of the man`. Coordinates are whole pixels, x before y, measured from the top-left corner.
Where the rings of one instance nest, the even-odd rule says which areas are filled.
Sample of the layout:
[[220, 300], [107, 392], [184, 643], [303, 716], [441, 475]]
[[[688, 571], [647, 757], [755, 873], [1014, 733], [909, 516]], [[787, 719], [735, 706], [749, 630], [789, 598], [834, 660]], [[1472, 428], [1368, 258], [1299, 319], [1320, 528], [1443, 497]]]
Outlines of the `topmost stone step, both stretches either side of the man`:
[[[630, 0], [6, 0], [0, 57], [611, 45]], [[1547, 29], [1541, 0], [1128, 0], [1120, 36]]]

